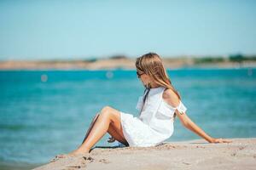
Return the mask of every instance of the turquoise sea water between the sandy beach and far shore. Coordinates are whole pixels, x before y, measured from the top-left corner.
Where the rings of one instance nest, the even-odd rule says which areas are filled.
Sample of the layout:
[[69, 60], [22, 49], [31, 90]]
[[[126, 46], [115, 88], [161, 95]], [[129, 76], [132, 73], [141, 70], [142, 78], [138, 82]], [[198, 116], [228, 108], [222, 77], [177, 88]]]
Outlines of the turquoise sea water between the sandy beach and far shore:
[[[187, 115], [214, 138], [256, 137], [256, 69], [168, 70]], [[137, 116], [136, 71], [0, 71], [0, 162], [40, 164], [76, 149], [105, 105]], [[106, 134], [96, 146], [111, 146]], [[178, 118], [168, 141], [201, 139]], [[207, 141], [206, 141], [207, 142]], [[1, 166], [0, 166], [1, 167]]]

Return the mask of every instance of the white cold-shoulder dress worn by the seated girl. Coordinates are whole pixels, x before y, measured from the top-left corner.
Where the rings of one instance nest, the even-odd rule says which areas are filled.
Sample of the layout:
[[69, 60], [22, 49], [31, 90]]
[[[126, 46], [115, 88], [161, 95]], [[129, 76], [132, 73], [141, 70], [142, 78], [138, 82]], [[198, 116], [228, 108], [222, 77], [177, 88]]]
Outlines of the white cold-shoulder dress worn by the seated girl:
[[[154, 146], [172, 136], [175, 111], [184, 112], [187, 108], [181, 100], [177, 107], [168, 105], [162, 98], [165, 89], [165, 87], [150, 88], [139, 117], [120, 111], [121, 126], [129, 146]], [[142, 106], [143, 96], [140, 96], [137, 110], [140, 111]]]

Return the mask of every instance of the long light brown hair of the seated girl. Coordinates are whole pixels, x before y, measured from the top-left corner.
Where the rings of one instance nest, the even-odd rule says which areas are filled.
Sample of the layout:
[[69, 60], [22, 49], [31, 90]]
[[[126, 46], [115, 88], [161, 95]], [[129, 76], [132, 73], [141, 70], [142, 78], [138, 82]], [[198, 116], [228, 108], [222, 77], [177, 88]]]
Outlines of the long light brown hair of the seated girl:
[[[163, 65], [162, 59], [158, 54], [148, 53], [148, 54], [143, 54], [141, 57], [138, 57], [136, 59], [136, 68], [137, 70], [143, 71], [145, 74], [151, 77], [156, 84], [168, 89], [172, 89], [172, 91], [175, 94], [177, 94], [178, 99], [181, 99], [181, 96], [178, 94], [177, 90], [172, 86], [172, 82], [168, 77], [168, 74]], [[150, 88], [151, 87], [149, 84], [149, 87], [146, 87], [146, 89], [144, 90], [144, 94], [145, 93], [146, 94], [144, 95], [144, 98], [143, 98], [143, 106], [144, 106], [145, 100], [148, 97]], [[141, 109], [141, 112], [142, 110], [143, 110], [143, 107]], [[174, 118], [175, 116], [176, 116], [176, 113], [174, 113]]]

